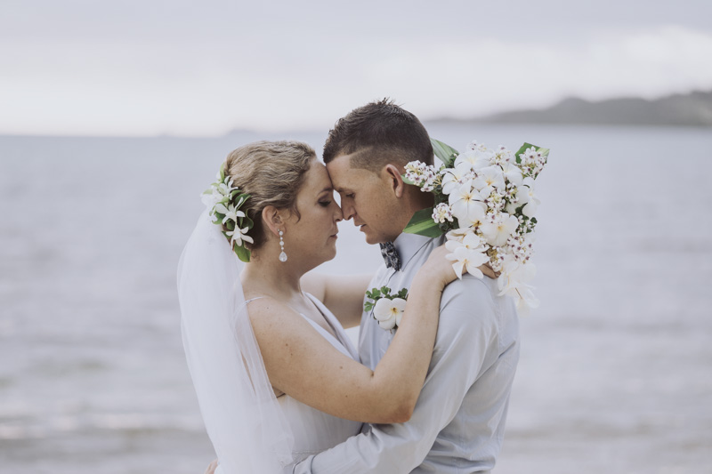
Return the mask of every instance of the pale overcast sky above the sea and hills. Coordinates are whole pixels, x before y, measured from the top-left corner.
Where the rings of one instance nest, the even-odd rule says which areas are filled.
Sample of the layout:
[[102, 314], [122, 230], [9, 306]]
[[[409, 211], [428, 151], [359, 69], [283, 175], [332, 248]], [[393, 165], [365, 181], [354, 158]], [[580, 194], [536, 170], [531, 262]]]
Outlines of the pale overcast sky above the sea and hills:
[[3, 0], [0, 133], [327, 130], [712, 90], [709, 0]]

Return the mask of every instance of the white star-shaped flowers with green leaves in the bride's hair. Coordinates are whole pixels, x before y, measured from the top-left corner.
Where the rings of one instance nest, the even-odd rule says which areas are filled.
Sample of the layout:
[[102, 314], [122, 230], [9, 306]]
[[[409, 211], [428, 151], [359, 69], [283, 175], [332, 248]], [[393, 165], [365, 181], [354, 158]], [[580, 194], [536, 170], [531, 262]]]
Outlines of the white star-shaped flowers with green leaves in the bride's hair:
[[247, 235], [255, 223], [240, 211], [250, 195], [245, 194], [237, 186], [233, 186], [230, 175], [225, 174], [225, 164], [220, 165], [220, 171], [215, 177], [216, 181], [202, 194], [203, 204], [206, 205], [210, 217], [215, 225], [223, 228], [223, 236], [228, 239], [232, 251], [241, 261], [250, 261], [250, 251], [245, 245], [253, 244], [252, 237]]

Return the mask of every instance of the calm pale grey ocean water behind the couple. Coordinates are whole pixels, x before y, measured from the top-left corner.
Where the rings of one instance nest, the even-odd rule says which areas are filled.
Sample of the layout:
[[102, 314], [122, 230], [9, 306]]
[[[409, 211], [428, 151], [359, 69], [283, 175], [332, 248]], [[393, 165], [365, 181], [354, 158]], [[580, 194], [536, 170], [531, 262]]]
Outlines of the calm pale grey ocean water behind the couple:
[[[552, 149], [496, 472], [712, 472], [712, 132], [432, 126]], [[258, 139], [0, 137], [0, 472], [203, 472], [175, 267], [225, 155]], [[379, 263], [351, 222], [323, 271]]]

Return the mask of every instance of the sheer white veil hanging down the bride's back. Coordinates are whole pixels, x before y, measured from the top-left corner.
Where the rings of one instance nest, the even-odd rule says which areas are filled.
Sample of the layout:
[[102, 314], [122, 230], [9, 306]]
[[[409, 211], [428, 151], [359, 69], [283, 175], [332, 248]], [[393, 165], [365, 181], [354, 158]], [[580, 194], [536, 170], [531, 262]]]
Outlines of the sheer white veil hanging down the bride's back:
[[178, 263], [183, 347], [218, 471], [278, 473], [293, 461], [294, 438], [247, 315], [243, 267], [202, 213]]

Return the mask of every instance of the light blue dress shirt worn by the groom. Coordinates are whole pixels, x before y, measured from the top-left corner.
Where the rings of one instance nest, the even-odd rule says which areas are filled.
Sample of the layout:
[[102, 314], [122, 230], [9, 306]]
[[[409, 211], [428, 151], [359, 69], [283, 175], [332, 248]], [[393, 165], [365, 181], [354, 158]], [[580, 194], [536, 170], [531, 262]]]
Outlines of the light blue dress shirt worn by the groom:
[[[369, 288], [409, 287], [444, 237], [401, 234], [401, 271], [381, 266]], [[361, 317], [361, 362], [373, 369], [392, 341], [370, 313]], [[519, 360], [514, 301], [497, 281], [465, 275], [445, 288], [433, 359], [409, 422], [364, 425], [360, 435], [308, 457], [295, 473], [489, 472], [502, 446]]]

